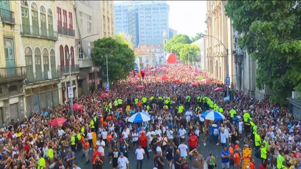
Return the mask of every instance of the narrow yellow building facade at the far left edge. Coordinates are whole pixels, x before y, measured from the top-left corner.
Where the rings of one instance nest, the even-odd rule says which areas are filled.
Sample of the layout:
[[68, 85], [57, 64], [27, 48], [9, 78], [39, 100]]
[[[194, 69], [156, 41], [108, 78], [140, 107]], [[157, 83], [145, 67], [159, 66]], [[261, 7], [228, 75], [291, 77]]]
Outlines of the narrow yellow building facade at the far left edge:
[[0, 123], [23, 119], [25, 62], [17, 1], [0, 1]]

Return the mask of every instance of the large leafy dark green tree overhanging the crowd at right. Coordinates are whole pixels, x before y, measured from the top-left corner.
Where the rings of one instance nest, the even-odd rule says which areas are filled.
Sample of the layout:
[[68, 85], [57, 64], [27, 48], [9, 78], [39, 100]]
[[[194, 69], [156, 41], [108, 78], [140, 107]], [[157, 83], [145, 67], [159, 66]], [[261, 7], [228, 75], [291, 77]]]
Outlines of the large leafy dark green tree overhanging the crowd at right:
[[258, 88], [267, 85], [271, 101], [282, 104], [301, 91], [301, 2], [228, 1], [225, 11], [243, 33], [239, 45], [257, 61]]

